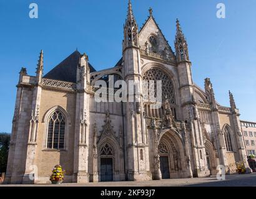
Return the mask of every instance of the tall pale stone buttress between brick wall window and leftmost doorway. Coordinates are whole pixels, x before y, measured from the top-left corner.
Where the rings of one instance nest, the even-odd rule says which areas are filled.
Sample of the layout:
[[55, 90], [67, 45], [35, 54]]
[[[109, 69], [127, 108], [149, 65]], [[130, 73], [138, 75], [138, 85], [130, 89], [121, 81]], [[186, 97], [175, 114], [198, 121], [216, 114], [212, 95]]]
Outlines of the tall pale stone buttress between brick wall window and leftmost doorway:
[[88, 57], [81, 55], [77, 67], [76, 94], [76, 127], [74, 141], [74, 174], [73, 182], [89, 182], [88, 174], [88, 142], [89, 142], [89, 80], [90, 70]]

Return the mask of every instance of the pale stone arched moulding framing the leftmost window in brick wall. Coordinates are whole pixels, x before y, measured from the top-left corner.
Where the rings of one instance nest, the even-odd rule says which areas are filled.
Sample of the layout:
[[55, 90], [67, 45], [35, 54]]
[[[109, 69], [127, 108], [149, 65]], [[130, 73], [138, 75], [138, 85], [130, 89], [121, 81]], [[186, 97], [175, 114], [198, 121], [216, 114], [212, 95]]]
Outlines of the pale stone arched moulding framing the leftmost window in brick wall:
[[48, 136], [48, 131], [49, 131], [49, 120], [52, 116], [52, 114], [56, 111], [59, 111], [65, 118], [65, 131], [64, 131], [64, 149], [68, 149], [68, 141], [69, 141], [69, 126], [71, 125], [71, 119], [69, 117], [69, 114], [67, 111], [62, 108], [61, 106], [54, 106], [42, 117], [42, 124], [44, 124], [44, 141], [42, 145], [42, 149], [47, 149], [47, 136]]

